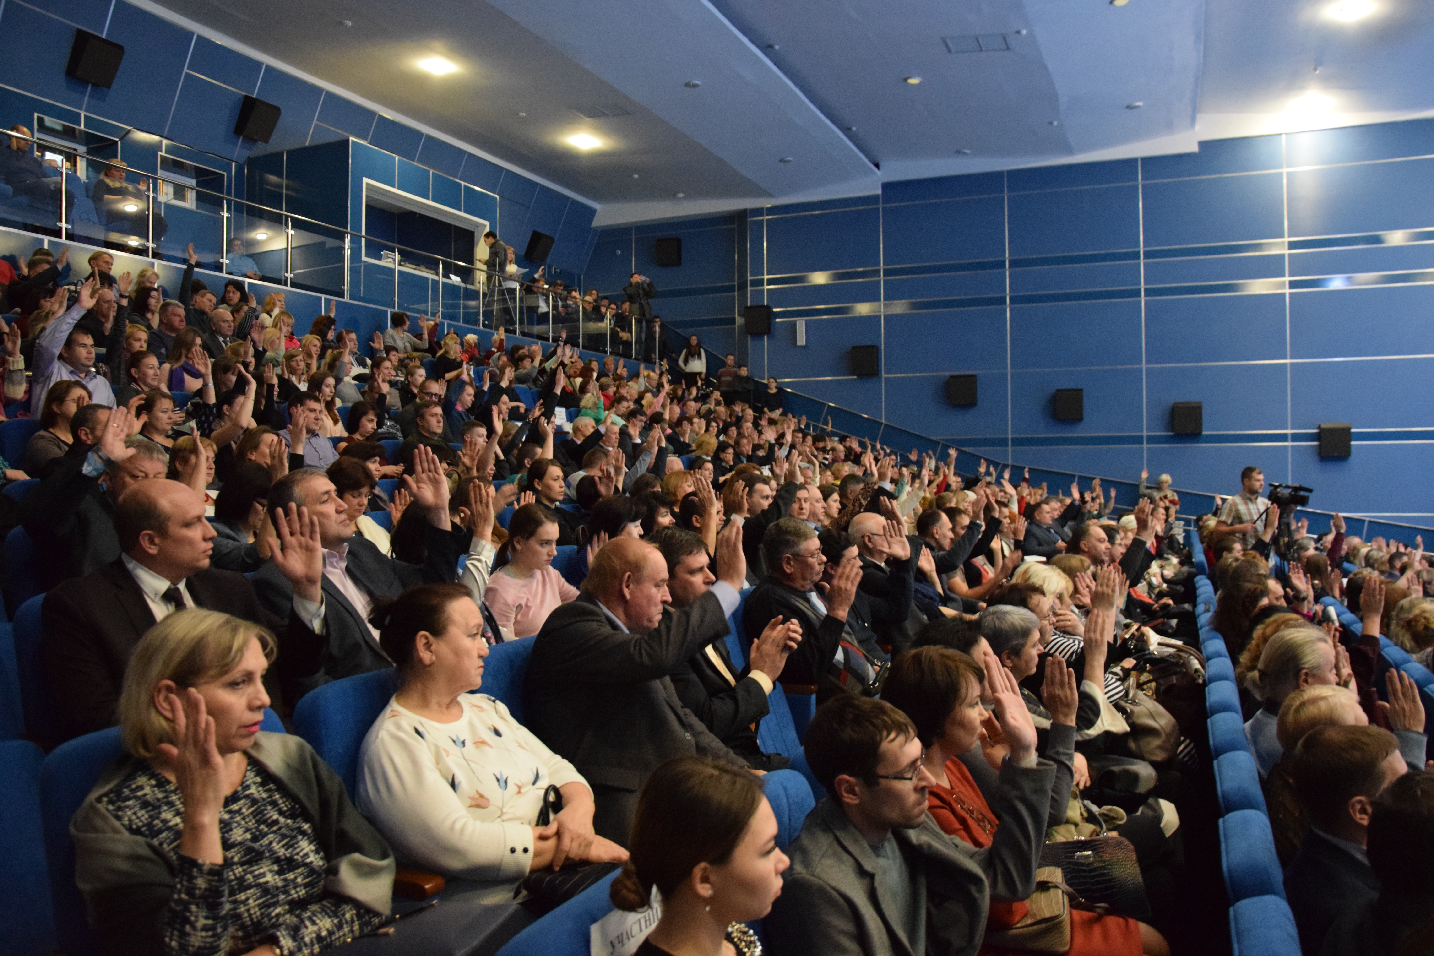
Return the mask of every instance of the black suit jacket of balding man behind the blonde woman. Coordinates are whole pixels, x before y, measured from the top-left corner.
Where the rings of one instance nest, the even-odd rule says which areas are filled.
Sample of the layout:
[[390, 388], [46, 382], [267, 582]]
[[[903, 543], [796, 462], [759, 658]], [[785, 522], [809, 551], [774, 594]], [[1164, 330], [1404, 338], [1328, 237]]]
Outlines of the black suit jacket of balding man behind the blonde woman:
[[[206, 568], [185, 579], [185, 591], [196, 608], [274, 625], [244, 575]], [[135, 576], [115, 559], [72, 578], [44, 595], [40, 622], [40, 658], [63, 740], [113, 727], [129, 655], [155, 626]]]

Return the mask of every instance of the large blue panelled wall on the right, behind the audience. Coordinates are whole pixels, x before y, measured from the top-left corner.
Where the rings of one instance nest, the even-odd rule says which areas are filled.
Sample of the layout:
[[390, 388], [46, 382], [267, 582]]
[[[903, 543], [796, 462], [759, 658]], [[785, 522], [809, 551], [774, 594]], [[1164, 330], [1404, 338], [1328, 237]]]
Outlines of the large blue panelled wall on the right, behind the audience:
[[[1084, 474], [1147, 466], [1205, 492], [1259, 464], [1314, 487], [1314, 507], [1428, 526], [1431, 182], [1434, 120], [891, 183], [721, 221], [743, 248], [673, 285], [701, 274], [771, 304], [753, 374], [921, 434]], [[645, 236], [718, 226], [604, 231], [591, 271], [625, 269]], [[695, 311], [734, 334], [736, 307]], [[847, 374], [856, 344], [883, 345], [880, 378]], [[975, 408], [946, 406], [955, 373], [977, 374]], [[1051, 416], [1063, 387], [1086, 390], [1084, 421]], [[1205, 403], [1202, 437], [1169, 431], [1173, 401]], [[1349, 460], [1318, 457], [1322, 421], [1354, 424]]]

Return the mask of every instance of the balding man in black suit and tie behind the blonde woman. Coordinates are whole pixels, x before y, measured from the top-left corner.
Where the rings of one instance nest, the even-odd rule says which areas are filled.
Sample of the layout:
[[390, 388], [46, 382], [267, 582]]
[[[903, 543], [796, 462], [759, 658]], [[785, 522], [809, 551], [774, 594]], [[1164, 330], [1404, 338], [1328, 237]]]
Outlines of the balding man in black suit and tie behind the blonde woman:
[[[40, 644], [62, 740], [112, 727], [139, 638], [181, 608], [265, 623], [244, 575], [209, 568], [204, 499], [168, 479], [128, 487], [115, 506], [120, 555], [44, 596]], [[60, 742], [60, 741], [54, 741]]]

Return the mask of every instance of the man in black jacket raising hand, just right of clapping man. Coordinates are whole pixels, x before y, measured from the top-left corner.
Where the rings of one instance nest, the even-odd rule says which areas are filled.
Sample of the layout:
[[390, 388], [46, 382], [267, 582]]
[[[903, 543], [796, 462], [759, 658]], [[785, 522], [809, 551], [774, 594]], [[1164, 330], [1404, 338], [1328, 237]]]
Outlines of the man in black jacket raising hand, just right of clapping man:
[[[846, 535], [842, 539], [843, 550], [847, 550], [850, 539]], [[789, 681], [815, 684], [817, 701], [842, 692], [880, 692], [885, 655], [876, 656], [870, 648], [863, 648], [847, 622], [862, 573], [855, 555], [837, 559], [839, 570], [830, 586], [817, 593], [816, 585], [822, 580], [827, 556], [810, 525], [794, 517], [777, 519], [767, 526], [761, 550], [767, 576], [743, 603], [741, 619], [747, 634], [761, 634], [767, 622], [779, 616], [800, 623], [802, 644], [792, 652], [784, 669]]]

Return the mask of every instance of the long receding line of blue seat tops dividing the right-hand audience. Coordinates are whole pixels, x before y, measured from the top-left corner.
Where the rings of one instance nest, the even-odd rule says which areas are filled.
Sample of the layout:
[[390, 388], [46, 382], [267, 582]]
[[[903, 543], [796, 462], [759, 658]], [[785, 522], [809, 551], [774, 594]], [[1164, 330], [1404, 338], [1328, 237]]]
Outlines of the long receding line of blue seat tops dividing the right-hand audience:
[[1275, 853], [1255, 754], [1245, 737], [1235, 664], [1223, 638], [1210, 628], [1215, 588], [1206, 576], [1203, 548], [1195, 539], [1195, 612], [1205, 652], [1205, 701], [1210, 757], [1220, 801], [1220, 864], [1230, 902], [1235, 956], [1299, 956], [1295, 916], [1285, 902], [1285, 880]]

